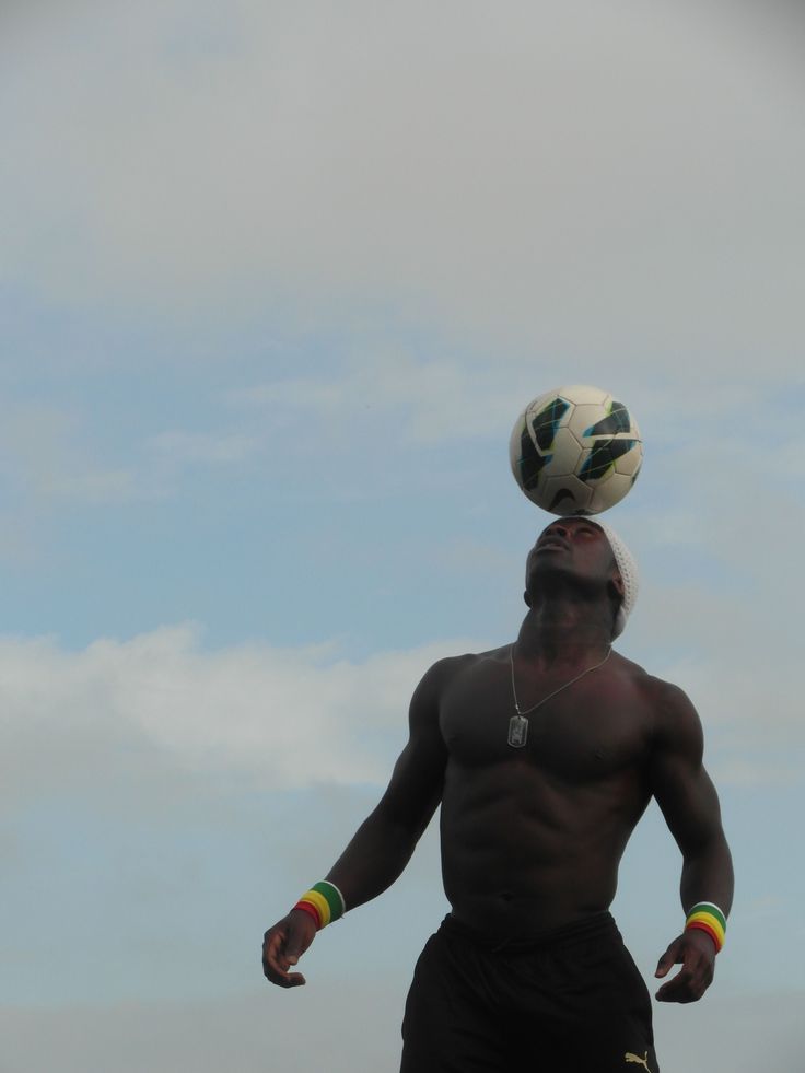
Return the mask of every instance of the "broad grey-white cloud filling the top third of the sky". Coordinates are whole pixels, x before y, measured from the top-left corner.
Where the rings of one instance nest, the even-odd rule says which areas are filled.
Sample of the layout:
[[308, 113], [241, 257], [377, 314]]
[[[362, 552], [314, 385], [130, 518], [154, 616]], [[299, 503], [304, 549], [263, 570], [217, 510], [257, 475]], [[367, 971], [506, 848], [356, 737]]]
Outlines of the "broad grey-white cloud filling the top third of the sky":
[[795, 68], [726, 18], [244, 2], [224, 32], [174, 0], [34, 22], [5, 65], [5, 272], [201, 318], [392, 295], [500, 350], [793, 373]]

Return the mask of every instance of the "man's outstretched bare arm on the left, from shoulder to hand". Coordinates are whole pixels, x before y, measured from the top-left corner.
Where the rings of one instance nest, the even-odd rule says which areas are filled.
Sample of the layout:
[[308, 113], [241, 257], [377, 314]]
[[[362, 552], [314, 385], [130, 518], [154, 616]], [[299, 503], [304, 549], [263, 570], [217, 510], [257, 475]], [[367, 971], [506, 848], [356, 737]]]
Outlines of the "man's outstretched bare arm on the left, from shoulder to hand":
[[[401, 874], [442, 798], [447, 749], [439, 728], [439, 699], [456, 664], [455, 658], [434, 664], [415, 690], [408, 743], [388, 788], [326, 876], [348, 909], [376, 898]], [[284, 988], [304, 983], [300, 972], [289, 970], [315, 934], [312, 918], [300, 910], [270, 928], [262, 947], [266, 977]]]

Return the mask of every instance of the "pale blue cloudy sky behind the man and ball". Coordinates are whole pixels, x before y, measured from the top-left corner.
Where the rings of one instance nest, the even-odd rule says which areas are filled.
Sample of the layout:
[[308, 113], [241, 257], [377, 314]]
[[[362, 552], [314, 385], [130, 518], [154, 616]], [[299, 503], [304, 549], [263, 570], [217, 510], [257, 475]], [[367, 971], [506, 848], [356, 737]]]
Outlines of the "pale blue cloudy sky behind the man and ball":
[[[618, 651], [681, 686], [735, 858], [663, 1073], [802, 1053], [805, 18], [770, 0], [0, 11], [0, 1069], [394, 1073], [434, 826], [264, 931], [383, 792], [411, 690], [511, 640], [550, 520], [508, 441], [634, 412]], [[655, 807], [614, 912], [678, 933]]]

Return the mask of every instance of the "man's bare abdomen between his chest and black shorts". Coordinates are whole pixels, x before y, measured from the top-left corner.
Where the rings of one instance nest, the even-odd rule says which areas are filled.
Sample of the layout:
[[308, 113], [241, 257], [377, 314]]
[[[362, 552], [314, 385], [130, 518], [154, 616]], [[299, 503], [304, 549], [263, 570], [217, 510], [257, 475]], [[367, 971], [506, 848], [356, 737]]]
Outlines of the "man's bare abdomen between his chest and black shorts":
[[645, 804], [628, 774], [568, 785], [533, 762], [450, 762], [441, 843], [453, 915], [527, 938], [608, 909]]

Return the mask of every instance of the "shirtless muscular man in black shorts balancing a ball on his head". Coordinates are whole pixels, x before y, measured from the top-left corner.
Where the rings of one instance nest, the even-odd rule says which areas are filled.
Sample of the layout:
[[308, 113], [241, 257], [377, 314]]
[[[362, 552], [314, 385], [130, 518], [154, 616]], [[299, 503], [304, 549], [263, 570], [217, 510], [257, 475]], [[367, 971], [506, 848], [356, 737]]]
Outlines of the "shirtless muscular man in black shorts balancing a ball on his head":
[[303, 896], [266, 932], [265, 975], [304, 983], [291, 968], [317, 926], [390, 886], [441, 803], [452, 910], [417, 963], [401, 1073], [658, 1073], [649, 992], [608, 912], [652, 796], [682, 853], [688, 914], [656, 976], [682, 967], [656, 998], [695, 1002], [712, 981], [730, 850], [693, 707], [611, 651], [635, 584], [608, 526], [552, 522], [528, 555], [517, 640], [428, 670], [388, 789], [318, 885], [326, 898]]

